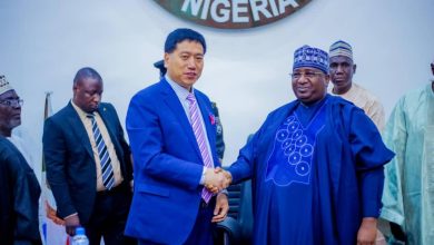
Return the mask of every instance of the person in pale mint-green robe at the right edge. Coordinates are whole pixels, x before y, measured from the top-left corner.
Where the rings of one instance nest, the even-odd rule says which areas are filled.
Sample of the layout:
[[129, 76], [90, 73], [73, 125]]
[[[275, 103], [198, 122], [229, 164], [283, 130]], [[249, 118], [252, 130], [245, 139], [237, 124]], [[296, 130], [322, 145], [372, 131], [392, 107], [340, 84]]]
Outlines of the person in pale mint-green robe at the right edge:
[[[431, 63], [434, 76], [434, 61]], [[408, 244], [434, 241], [434, 80], [396, 104], [384, 130], [396, 151], [386, 165], [382, 217], [398, 225]], [[398, 231], [392, 226], [395, 238]]]

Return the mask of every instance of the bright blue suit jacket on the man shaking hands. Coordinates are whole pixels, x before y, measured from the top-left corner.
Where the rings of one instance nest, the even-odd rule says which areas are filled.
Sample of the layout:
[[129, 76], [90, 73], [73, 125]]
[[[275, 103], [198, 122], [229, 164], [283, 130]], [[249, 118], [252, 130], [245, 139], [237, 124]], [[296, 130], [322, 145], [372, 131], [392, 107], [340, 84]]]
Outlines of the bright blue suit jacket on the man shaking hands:
[[[195, 90], [215, 166], [216, 125], [211, 104]], [[187, 115], [170, 85], [136, 94], [127, 112], [135, 166], [135, 194], [126, 234], [162, 244], [183, 244], [200, 204], [204, 164]]]

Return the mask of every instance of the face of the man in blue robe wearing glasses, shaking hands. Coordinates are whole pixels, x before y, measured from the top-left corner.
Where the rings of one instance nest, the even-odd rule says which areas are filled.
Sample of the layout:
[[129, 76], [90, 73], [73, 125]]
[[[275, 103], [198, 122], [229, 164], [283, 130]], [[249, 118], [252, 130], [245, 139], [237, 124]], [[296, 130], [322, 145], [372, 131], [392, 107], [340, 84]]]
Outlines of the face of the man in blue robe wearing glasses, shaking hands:
[[293, 90], [304, 104], [323, 99], [327, 91], [329, 76], [316, 68], [302, 67], [293, 71]]

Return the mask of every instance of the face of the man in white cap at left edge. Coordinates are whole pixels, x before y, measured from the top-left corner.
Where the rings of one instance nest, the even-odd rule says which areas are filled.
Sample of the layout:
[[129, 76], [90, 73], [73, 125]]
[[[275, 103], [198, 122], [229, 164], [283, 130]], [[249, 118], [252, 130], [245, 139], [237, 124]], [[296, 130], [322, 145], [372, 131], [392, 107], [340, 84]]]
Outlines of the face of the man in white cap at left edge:
[[21, 104], [14, 90], [0, 95], [0, 129], [11, 131], [21, 125]]

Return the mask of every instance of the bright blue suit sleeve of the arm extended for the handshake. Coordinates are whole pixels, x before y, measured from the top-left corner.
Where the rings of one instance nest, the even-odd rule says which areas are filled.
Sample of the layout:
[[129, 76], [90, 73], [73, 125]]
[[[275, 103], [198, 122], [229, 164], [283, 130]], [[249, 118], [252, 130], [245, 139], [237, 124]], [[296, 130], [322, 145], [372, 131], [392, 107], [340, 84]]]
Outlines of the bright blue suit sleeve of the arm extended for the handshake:
[[[162, 134], [165, 129], [161, 128], [164, 121], [160, 121], [161, 118], [157, 112], [161, 110], [161, 108], [158, 108], [160, 106], [158, 102], [161, 101], [149, 100], [138, 95], [135, 96], [127, 112], [127, 133], [134, 154], [135, 175], [144, 174], [137, 171], [145, 171], [146, 175], [167, 183], [191, 189], [197, 188], [204, 167], [168, 154], [168, 149], [176, 147], [177, 143], [165, 141], [166, 138]], [[167, 124], [167, 121], [165, 122]], [[165, 131], [166, 135], [177, 133]]]

